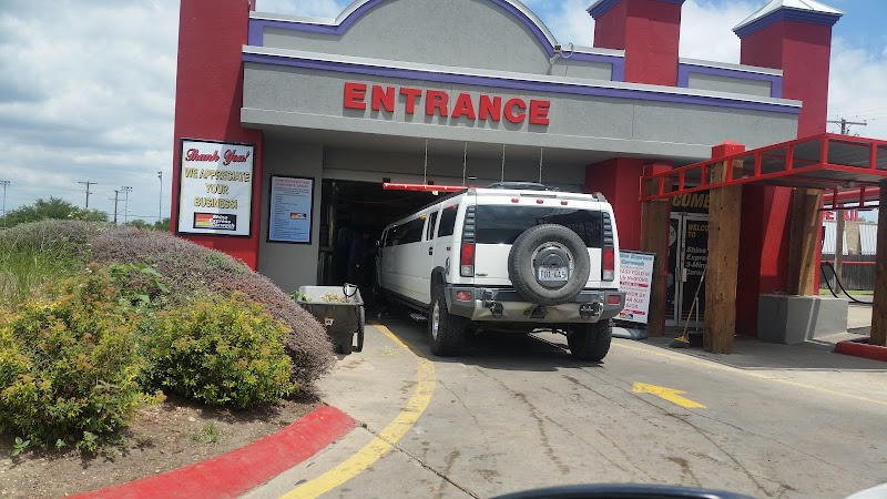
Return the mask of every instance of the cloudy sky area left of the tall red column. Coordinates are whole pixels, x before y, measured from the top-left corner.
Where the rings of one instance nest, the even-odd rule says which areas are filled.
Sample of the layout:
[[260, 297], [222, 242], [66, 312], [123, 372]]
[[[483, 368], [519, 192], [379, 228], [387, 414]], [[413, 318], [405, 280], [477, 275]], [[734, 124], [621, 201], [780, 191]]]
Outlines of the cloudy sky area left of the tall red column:
[[90, 207], [112, 212], [113, 190], [133, 185], [131, 212], [156, 216], [156, 172], [166, 191], [172, 177], [177, 9], [163, 0], [34, 3], [4, 3], [0, 14], [7, 207], [50, 196], [82, 205], [78, 182], [91, 181]]

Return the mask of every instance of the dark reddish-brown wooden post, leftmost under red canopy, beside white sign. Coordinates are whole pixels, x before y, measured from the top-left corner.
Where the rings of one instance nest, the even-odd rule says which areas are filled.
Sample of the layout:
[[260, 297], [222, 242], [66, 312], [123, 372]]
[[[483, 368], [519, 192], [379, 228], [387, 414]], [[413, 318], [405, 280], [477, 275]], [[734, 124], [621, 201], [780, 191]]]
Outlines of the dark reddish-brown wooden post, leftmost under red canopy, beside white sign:
[[[671, 170], [669, 164], [653, 164], [644, 167], [644, 175], [669, 170]], [[645, 195], [656, 194], [659, 193], [659, 181], [652, 181], [643, 189]], [[670, 191], [671, 186], [666, 185], [665, 190]], [[671, 200], [667, 198], [641, 203], [641, 251], [656, 254], [646, 323], [650, 336], [665, 334], [671, 205]]]

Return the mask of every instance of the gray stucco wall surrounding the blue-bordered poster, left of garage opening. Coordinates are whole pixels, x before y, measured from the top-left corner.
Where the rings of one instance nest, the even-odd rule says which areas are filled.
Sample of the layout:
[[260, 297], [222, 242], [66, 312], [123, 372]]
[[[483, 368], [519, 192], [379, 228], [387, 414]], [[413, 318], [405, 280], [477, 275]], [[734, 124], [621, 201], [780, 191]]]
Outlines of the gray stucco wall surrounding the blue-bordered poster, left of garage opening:
[[[258, 246], [258, 272], [268, 276], [285, 292], [317, 282], [317, 251], [320, 222], [320, 180], [324, 152], [320, 146], [298, 145], [265, 134], [265, 160], [262, 179], [262, 232]], [[272, 175], [314, 177], [314, 226], [312, 244], [268, 243], [268, 194]]]

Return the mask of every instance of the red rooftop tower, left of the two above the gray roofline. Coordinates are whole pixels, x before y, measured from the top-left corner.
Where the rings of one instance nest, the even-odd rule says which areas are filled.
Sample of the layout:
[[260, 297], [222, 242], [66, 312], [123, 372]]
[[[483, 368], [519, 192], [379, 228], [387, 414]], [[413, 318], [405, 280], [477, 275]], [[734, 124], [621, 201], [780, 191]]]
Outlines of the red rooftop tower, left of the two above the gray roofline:
[[602, 0], [594, 18], [594, 47], [625, 51], [625, 81], [675, 86], [683, 0]]

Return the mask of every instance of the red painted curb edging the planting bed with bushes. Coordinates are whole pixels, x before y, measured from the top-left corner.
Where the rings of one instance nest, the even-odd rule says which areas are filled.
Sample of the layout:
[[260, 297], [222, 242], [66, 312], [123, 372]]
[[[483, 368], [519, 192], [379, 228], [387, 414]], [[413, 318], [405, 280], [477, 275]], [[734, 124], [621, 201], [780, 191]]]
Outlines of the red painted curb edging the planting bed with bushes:
[[335, 407], [319, 407], [248, 446], [141, 480], [71, 496], [108, 498], [235, 498], [317, 454], [356, 422]]

